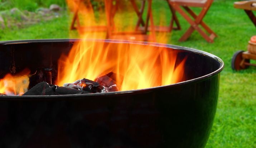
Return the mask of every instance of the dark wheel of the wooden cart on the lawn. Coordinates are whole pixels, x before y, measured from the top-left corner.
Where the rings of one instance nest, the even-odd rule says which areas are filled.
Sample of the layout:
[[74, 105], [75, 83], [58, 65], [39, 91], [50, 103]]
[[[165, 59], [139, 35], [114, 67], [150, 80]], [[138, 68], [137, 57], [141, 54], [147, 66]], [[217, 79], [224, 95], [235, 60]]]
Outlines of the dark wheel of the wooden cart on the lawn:
[[232, 57], [232, 62], [231, 62], [231, 68], [233, 70], [241, 70], [241, 69], [247, 69], [249, 66], [245, 65], [244, 63], [241, 65], [242, 60], [244, 60], [244, 62], [250, 63], [250, 59], [243, 59], [242, 57], [242, 53], [244, 51], [237, 51], [233, 57]]

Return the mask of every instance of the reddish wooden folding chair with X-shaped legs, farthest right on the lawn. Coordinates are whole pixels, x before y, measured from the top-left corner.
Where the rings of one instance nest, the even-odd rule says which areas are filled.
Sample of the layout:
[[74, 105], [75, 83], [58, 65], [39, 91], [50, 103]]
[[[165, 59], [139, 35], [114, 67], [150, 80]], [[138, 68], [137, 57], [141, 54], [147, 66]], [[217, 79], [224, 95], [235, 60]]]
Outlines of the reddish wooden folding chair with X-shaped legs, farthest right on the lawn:
[[[196, 30], [204, 39], [206, 39], [206, 41], [211, 43], [213, 42], [213, 39], [217, 37], [217, 35], [206, 25], [206, 23], [203, 22], [203, 18], [209, 10], [212, 2], [213, 0], [169, 0], [169, 4], [191, 25], [179, 41], [186, 41], [192, 32]], [[188, 14], [181, 7], [183, 7]], [[198, 15], [196, 15], [189, 7], [202, 7], [202, 10]], [[192, 16], [194, 20], [190, 18], [189, 15]], [[199, 25], [201, 25], [205, 31], [203, 31]], [[209, 35], [206, 32], [208, 32]]]

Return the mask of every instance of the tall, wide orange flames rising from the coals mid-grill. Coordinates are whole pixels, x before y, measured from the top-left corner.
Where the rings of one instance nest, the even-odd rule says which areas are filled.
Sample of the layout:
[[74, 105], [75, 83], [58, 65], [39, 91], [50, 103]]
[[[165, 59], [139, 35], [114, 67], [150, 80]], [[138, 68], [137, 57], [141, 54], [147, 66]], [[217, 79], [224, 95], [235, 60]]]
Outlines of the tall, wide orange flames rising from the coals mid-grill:
[[[73, 3], [68, 0], [68, 4]], [[79, 5], [79, 10], [92, 14], [92, 7], [83, 4]], [[91, 17], [82, 23], [89, 26], [96, 24]], [[77, 29], [83, 39], [102, 38], [96, 32]], [[161, 41], [168, 41], [166, 34], [160, 38]], [[184, 80], [186, 58], [177, 62], [177, 51], [139, 44], [113, 44], [86, 40], [76, 42], [68, 56], [62, 55], [59, 59], [57, 85], [62, 86], [82, 78], [95, 80], [109, 72], [117, 74], [116, 81], [121, 91], [169, 85]]]

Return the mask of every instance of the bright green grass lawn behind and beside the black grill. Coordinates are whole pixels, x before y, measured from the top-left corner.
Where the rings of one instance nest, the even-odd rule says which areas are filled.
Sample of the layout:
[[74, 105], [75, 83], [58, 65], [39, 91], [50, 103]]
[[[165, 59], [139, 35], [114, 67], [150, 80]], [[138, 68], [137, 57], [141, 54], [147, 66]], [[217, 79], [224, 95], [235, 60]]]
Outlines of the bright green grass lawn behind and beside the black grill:
[[[243, 10], [233, 7], [234, 1], [214, 0], [204, 17], [204, 22], [218, 35], [214, 43], [206, 42], [198, 32], [194, 32], [187, 41], [179, 42], [189, 27], [179, 14], [182, 30], [174, 30], [168, 35], [169, 44], [206, 51], [224, 61], [217, 113], [207, 148], [256, 148], [256, 67], [240, 72], [231, 69], [233, 54], [247, 50], [248, 40], [256, 35], [256, 28]], [[162, 17], [169, 20], [169, 9], [164, 1], [154, 3], [153, 8], [155, 18], [159, 18], [159, 12], [162, 12], [166, 14]], [[0, 40], [78, 37], [76, 31], [69, 31], [69, 22], [69, 16], [62, 16], [26, 28], [1, 30]]]

